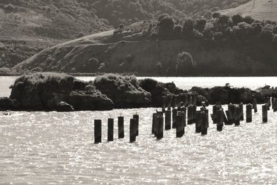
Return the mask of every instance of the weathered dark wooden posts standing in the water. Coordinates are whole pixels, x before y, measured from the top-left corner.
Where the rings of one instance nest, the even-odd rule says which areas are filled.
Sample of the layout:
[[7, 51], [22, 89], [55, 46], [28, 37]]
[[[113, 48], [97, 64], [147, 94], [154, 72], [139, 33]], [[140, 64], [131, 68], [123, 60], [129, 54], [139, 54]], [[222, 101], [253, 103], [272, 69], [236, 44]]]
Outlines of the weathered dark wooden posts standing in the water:
[[[267, 112], [272, 105], [274, 112], [277, 112], [276, 98], [267, 99], [267, 103], [262, 105], [262, 122], [267, 123]], [[221, 132], [224, 125], [240, 125], [240, 121], [244, 121], [243, 104], [239, 105], [229, 104], [228, 109], [224, 109], [220, 104], [213, 106], [213, 114], [211, 118], [214, 124], [217, 124], [217, 131]], [[253, 104], [246, 105], [246, 122], [252, 122], [252, 109], [258, 112], [257, 100], [253, 99]], [[163, 116], [163, 114], [165, 116]], [[182, 137], [185, 134], [186, 125], [193, 125], [195, 123], [195, 132], [202, 135], [208, 134], [208, 109], [202, 104], [202, 107], [197, 110], [196, 105], [184, 106], [181, 102], [179, 106], [168, 104], [167, 110], [163, 109], [161, 112], [156, 112], [152, 115], [152, 134], [157, 139], [163, 138], [163, 130], [176, 129], [176, 136]], [[107, 141], [114, 141], [114, 118], [108, 119]], [[136, 136], [139, 136], [139, 115], [133, 115], [129, 120], [129, 142], [136, 141]], [[123, 139], [124, 134], [124, 117], [118, 116], [118, 139]], [[102, 142], [102, 121], [94, 121], [94, 139], [95, 143]]]

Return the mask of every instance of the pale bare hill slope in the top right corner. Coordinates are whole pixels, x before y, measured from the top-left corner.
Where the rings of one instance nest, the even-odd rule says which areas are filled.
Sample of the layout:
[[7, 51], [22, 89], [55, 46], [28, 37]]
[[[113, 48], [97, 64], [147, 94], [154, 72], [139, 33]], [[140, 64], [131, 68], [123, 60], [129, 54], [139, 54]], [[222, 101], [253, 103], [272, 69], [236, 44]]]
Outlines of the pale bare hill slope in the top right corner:
[[250, 15], [254, 19], [277, 21], [277, 1], [276, 0], [253, 0], [237, 8], [230, 8], [219, 11], [223, 15]]

